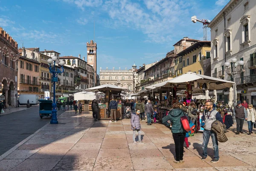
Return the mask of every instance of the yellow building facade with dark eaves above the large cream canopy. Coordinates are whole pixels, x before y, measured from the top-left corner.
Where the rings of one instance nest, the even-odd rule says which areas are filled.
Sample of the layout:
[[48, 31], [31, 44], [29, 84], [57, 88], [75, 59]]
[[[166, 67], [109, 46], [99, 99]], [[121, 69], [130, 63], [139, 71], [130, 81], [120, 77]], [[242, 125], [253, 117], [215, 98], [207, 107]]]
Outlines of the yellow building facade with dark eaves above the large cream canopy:
[[181, 51], [177, 57], [177, 74], [185, 74], [186, 72], [195, 72], [205, 75], [204, 67], [207, 59], [210, 58], [211, 43], [210, 41], [199, 41], [185, 50]]

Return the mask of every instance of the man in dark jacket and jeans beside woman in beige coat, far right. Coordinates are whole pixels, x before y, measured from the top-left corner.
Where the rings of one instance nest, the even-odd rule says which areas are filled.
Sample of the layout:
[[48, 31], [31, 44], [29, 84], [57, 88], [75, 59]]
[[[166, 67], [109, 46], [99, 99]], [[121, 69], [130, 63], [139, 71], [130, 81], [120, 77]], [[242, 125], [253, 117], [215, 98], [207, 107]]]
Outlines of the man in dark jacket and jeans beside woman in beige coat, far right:
[[243, 125], [247, 112], [244, 106], [241, 105], [241, 101], [237, 102], [237, 105], [234, 107], [233, 114], [236, 116], [236, 134], [244, 134]]

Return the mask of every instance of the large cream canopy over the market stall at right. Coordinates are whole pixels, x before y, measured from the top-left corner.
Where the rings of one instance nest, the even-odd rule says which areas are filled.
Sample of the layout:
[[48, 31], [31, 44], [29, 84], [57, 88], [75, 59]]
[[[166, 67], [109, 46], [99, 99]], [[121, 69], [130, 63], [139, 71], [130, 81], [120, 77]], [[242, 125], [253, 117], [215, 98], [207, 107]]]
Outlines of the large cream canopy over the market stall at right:
[[214, 77], [209, 77], [206, 75], [196, 74], [193, 72], [187, 72], [186, 74], [182, 74], [178, 77], [173, 78], [172, 80], [168, 80], [163, 83], [155, 84], [152, 86], [171, 87], [173, 84], [177, 84], [179, 89], [185, 89], [186, 84], [188, 82], [194, 85], [195, 81], [197, 81], [198, 84], [209, 83], [209, 90], [221, 90], [224, 88], [230, 88], [234, 84], [234, 82], [232, 81], [222, 80]]

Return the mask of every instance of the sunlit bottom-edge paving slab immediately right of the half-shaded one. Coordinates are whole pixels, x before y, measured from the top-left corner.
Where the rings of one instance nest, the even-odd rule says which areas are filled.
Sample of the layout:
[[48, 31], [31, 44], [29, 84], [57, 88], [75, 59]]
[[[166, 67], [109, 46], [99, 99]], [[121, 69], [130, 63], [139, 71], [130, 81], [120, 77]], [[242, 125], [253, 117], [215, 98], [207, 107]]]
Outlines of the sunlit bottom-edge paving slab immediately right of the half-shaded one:
[[125, 171], [133, 170], [131, 158], [98, 157], [93, 167], [94, 171]]

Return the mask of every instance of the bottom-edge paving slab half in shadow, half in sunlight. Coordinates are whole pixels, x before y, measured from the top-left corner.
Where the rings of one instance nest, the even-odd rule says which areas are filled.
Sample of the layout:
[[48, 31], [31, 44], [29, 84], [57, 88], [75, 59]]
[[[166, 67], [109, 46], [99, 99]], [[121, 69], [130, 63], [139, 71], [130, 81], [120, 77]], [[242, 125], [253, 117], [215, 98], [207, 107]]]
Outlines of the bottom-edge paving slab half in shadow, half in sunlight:
[[96, 158], [64, 158], [61, 159], [52, 171], [77, 170], [92, 171]]

